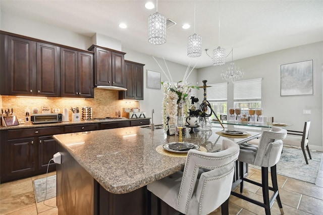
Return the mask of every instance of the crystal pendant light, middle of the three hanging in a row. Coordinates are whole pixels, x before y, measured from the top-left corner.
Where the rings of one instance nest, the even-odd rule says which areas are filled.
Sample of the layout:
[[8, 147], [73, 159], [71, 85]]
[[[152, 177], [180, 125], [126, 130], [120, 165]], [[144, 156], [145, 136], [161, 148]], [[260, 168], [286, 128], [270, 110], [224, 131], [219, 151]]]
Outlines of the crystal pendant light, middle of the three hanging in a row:
[[187, 56], [191, 58], [202, 55], [202, 37], [195, 33], [195, 1], [194, 1], [194, 34], [187, 39]]

